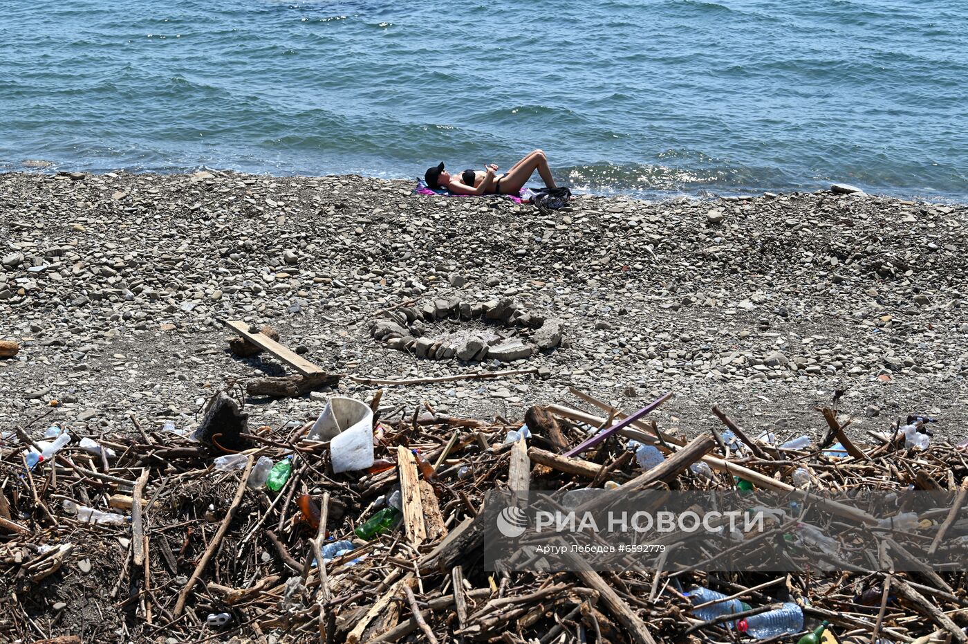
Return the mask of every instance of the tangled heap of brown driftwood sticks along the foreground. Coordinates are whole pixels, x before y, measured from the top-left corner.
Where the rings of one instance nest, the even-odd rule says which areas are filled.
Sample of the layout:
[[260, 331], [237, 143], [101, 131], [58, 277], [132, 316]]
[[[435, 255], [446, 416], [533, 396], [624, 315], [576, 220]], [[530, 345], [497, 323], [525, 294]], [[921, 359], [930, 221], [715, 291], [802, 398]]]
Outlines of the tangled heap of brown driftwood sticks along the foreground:
[[[629, 414], [573, 393], [598, 411], [531, 408], [531, 436], [517, 443], [504, 439], [520, 421], [442, 416], [426, 406], [381, 410], [380, 418], [378, 410], [376, 456], [395, 465], [376, 474], [331, 474], [328, 444], [303, 440], [305, 425], [243, 426], [232, 441], [249, 456], [244, 468], [218, 471], [213, 459], [227, 453], [225, 441], [146, 430], [134, 417], [135, 438], [88, 437], [114, 458], [76, 448], [81, 436], [72, 428], [71, 444], [29, 469], [26, 450], [45, 423], [17, 427], [0, 447], [0, 640], [748, 641], [725, 620], [704, 622], [690, 612], [683, 589], [702, 585], [761, 607], [796, 601], [808, 625], [830, 622], [831, 641], [965, 641], [963, 571], [485, 570], [473, 519], [493, 488], [615, 481], [623, 489], [711, 489], [734, 486], [735, 476], [763, 489], [790, 487], [796, 463], [757, 445], [718, 410], [751, 455], [732, 453], [717, 431], [685, 442], [647, 417], [589, 440], [594, 428], [615, 427]], [[833, 411], [817, 417], [830, 427], [827, 443], [839, 440], [850, 452], [838, 461], [825, 460], [819, 448], [787, 457], [809, 462], [817, 484], [956, 490], [968, 475], [964, 454], [951, 445], [925, 452], [894, 439], [854, 445]], [[620, 436], [649, 437], [667, 458], [643, 473]], [[418, 465], [413, 448], [432, 473]], [[274, 462], [293, 457], [278, 493], [247, 485], [262, 455]], [[711, 477], [690, 471], [700, 460]], [[401, 524], [369, 541], [355, 537], [354, 528], [398, 486]], [[65, 502], [130, 520], [92, 525], [65, 511]], [[326, 543], [345, 538], [354, 539], [351, 552], [315, 564]], [[224, 626], [206, 624], [222, 613], [229, 616]]]

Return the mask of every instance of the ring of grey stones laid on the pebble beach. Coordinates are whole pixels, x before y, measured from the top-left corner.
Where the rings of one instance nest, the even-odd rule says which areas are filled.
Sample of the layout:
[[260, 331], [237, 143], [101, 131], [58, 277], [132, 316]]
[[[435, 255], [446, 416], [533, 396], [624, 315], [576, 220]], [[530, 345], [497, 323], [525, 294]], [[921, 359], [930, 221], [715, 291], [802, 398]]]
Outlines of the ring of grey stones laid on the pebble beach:
[[[512, 362], [532, 353], [558, 347], [564, 321], [545, 320], [515, 306], [509, 297], [487, 302], [462, 302], [459, 297], [437, 299], [381, 314], [370, 322], [370, 335], [390, 349], [413, 352], [417, 357], [467, 362], [491, 358]], [[432, 336], [426, 322], [492, 322], [499, 328], [459, 328]]]

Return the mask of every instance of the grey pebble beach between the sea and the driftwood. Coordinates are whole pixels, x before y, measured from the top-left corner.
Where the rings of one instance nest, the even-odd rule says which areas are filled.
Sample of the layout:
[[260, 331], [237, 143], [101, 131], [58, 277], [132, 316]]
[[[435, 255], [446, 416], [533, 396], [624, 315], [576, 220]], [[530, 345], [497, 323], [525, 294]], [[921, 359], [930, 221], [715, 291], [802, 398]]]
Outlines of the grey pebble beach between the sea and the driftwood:
[[[191, 424], [212, 387], [285, 373], [228, 354], [218, 321], [231, 319], [271, 323], [320, 367], [368, 378], [542, 370], [390, 387], [388, 407], [520, 418], [533, 403], [578, 405], [571, 386], [627, 407], [674, 390], [656, 419], [683, 434], [703, 431], [716, 404], [760, 430], [814, 436], [823, 426], [802, 411], [847, 388], [859, 433], [915, 411], [944, 418], [940, 436], [968, 425], [965, 206], [829, 192], [583, 196], [545, 217], [352, 175], [113, 174], [0, 174], [0, 339], [22, 346], [0, 360], [14, 392], [4, 424], [51, 399], [55, 418], [99, 432], [130, 431], [129, 413]], [[369, 331], [380, 310], [455, 296], [560, 319], [560, 347], [431, 360]], [[318, 398], [376, 388], [344, 380]], [[303, 396], [257, 415], [275, 425], [318, 407]]]

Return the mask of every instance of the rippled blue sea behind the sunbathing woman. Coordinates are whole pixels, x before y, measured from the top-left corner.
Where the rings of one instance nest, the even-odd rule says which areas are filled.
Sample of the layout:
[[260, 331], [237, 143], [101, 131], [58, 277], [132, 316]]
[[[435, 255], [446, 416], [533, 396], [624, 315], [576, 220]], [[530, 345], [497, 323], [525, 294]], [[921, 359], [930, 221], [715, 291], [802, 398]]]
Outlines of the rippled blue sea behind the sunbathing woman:
[[[964, 0], [0, 0], [0, 169], [968, 201]], [[536, 179], [536, 175], [535, 175]]]

